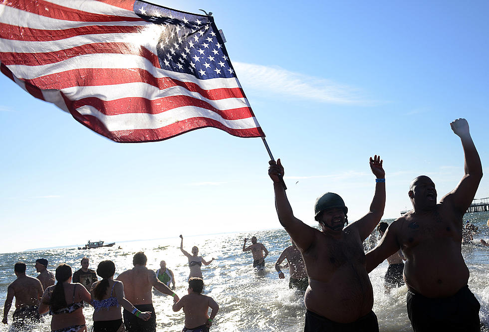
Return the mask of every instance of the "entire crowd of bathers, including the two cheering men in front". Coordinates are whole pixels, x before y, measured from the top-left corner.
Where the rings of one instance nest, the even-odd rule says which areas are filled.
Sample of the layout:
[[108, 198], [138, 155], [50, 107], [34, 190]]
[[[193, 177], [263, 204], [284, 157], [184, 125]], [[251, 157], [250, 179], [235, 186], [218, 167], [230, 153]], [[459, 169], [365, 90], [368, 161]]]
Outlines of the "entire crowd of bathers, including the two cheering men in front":
[[[314, 204], [319, 229], [297, 219], [283, 185], [284, 167], [280, 159], [269, 162], [268, 175], [273, 182], [278, 220], [290, 235], [291, 245], [283, 250], [275, 263], [279, 279], [285, 276], [280, 264], [286, 259], [289, 287], [304, 291], [306, 307], [304, 332], [352, 331], [377, 332], [377, 316], [372, 311], [374, 296], [369, 273], [387, 259], [384, 277], [386, 292], [407, 286], [406, 306], [415, 332], [480, 331], [480, 304], [468, 287], [469, 269], [461, 253], [463, 237], [471, 225], [463, 225], [463, 216], [476, 194], [483, 176], [482, 164], [465, 119], [451, 124], [464, 150], [462, 180], [455, 189], [437, 203], [435, 183], [428, 176], [413, 179], [408, 196], [413, 209], [390, 225], [380, 222], [385, 207], [385, 171], [380, 156], [370, 158], [375, 176], [375, 192], [367, 213], [348, 223], [348, 208], [336, 193], [326, 192]], [[380, 242], [366, 254], [364, 241], [377, 227]], [[470, 233], [469, 233], [470, 234]], [[17, 279], [8, 287], [3, 323], [15, 297], [14, 320], [41, 320], [52, 315], [51, 331], [86, 331], [83, 303], [94, 307], [93, 331], [156, 331], [156, 314], [152, 305], [152, 289], [173, 297], [175, 312], [183, 309], [183, 332], [209, 331], [219, 306], [202, 294], [204, 282], [201, 266], [209, 265], [199, 256], [180, 250], [188, 258], [190, 275], [188, 295], [181, 299], [175, 289], [173, 272], [160, 263], [155, 272], [146, 268], [143, 252], [133, 257], [134, 268], [113, 279], [112, 261], [100, 262], [96, 274], [82, 259], [82, 269], [72, 275], [71, 267], [60, 264], [53, 275], [47, 261], [36, 261], [38, 278], [25, 275], [25, 264], [18, 262]], [[469, 237], [470, 238], [470, 237]], [[264, 268], [268, 251], [256, 237], [243, 251], [251, 251], [253, 267]], [[485, 241], [484, 241], [485, 242]], [[481, 241], [483, 245], [487, 245]], [[85, 261], [86, 260], [86, 261]], [[57, 283], [54, 285], [54, 279]], [[75, 283], [72, 283], [75, 282]], [[79, 284], [81, 283], [81, 284]], [[40, 299], [40, 300], [39, 300]], [[120, 306], [124, 308], [121, 314]], [[209, 315], [209, 310], [211, 313]]]

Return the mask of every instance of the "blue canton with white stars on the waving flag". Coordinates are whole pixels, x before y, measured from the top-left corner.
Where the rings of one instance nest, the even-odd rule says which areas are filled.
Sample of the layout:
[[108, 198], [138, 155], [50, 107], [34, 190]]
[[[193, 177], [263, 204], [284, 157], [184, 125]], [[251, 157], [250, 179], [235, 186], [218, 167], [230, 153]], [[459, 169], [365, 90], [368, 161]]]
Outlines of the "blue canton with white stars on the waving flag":
[[198, 79], [236, 77], [223, 38], [212, 16], [195, 15], [135, 1], [134, 12], [161, 26], [160, 66]]

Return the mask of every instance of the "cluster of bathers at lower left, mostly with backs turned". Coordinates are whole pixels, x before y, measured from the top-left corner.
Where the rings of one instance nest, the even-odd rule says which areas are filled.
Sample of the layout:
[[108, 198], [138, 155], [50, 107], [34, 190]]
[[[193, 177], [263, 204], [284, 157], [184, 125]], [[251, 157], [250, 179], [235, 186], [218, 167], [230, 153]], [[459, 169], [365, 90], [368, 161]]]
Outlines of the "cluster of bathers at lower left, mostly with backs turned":
[[[183, 332], [209, 331], [219, 310], [211, 297], [202, 294], [202, 278], [189, 277], [188, 294], [179, 298], [169, 288], [173, 283], [172, 288], [175, 289], [173, 272], [166, 268], [164, 261], [161, 261], [157, 272], [148, 269], [147, 257], [143, 252], [136, 253], [133, 257], [134, 267], [122, 272], [115, 280], [115, 264], [110, 260], [100, 262], [96, 272], [88, 268], [89, 260], [86, 257], [81, 260], [82, 268], [75, 273], [63, 263], [53, 274], [47, 270], [47, 263], [46, 259], [36, 261], [36, 270], [40, 272], [37, 278], [26, 275], [25, 263], [15, 263], [17, 279], [7, 289], [3, 324], [8, 324], [7, 315], [15, 298], [12, 315], [15, 331], [33, 330], [43, 322], [43, 315], [49, 313], [52, 316], [51, 331], [86, 332], [83, 307], [90, 304], [94, 309], [94, 332], [155, 332], [153, 288], [173, 297], [173, 311], [183, 309]], [[43, 268], [37, 268], [37, 264]], [[122, 313], [121, 307], [124, 308]]]

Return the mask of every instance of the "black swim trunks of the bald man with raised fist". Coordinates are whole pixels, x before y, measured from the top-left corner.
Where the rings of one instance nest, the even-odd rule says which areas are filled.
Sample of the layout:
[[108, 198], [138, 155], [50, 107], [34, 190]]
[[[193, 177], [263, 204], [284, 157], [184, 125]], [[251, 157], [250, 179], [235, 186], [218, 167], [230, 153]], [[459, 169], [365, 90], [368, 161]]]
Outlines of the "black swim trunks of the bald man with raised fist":
[[430, 299], [408, 290], [406, 305], [414, 332], [481, 331], [481, 305], [469, 286], [443, 299]]

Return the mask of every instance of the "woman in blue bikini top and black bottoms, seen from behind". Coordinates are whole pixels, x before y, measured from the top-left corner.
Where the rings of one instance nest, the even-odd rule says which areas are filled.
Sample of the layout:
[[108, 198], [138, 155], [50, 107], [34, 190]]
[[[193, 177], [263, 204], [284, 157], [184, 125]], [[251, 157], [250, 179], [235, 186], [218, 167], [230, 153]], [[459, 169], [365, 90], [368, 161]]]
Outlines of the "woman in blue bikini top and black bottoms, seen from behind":
[[97, 274], [102, 277], [92, 285], [91, 296], [93, 312], [93, 332], [122, 332], [121, 306], [136, 317], [147, 321], [149, 312], [140, 312], [124, 297], [124, 285], [114, 280], [115, 265], [112, 261], [102, 261], [98, 264]]

